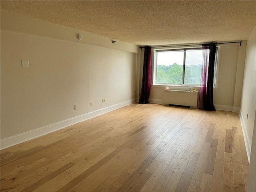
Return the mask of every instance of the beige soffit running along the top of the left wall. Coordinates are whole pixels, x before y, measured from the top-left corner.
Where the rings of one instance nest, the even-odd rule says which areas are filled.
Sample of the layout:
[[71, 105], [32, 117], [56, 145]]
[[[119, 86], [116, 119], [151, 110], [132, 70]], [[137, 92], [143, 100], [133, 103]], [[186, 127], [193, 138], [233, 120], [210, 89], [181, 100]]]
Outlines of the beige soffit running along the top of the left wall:
[[[92, 34], [89, 32], [60, 26], [57, 24], [29, 18], [16, 13], [1, 10], [1, 30], [20, 32], [35, 36], [49, 37], [58, 40], [79, 42], [86, 45], [100, 46], [104, 48], [123, 50], [138, 53], [137, 45], [127, 42], [117, 41], [112, 44], [112, 38]], [[77, 35], [82, 35], [82, 40], [77, 39]]]

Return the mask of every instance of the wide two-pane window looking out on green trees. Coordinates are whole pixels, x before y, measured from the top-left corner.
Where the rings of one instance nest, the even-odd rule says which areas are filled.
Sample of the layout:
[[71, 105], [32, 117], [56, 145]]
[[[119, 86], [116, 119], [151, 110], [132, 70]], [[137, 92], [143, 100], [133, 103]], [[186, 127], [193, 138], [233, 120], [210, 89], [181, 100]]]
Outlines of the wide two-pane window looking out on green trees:
[[[216, 82], [217, 51], [214, 66]], [[202, 48], [154, 50], [154, 85], [199, 86]]]

